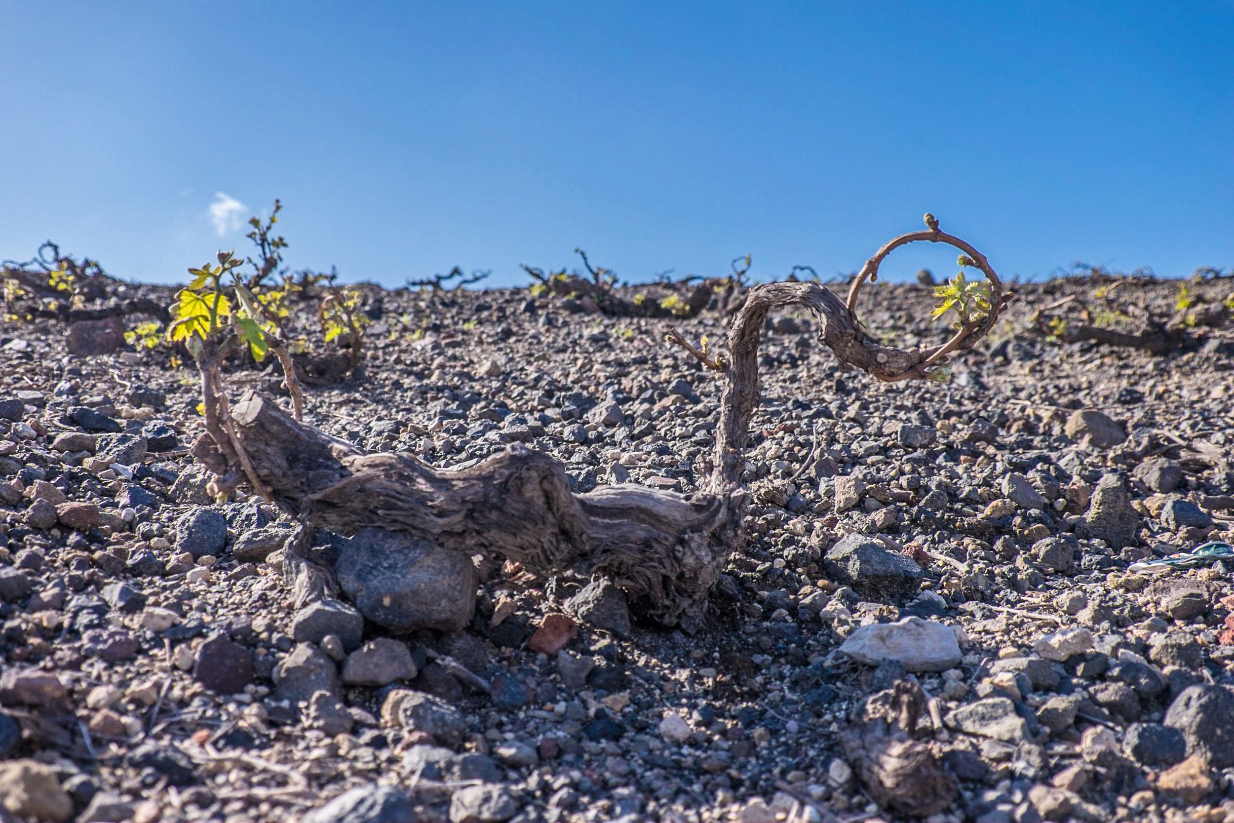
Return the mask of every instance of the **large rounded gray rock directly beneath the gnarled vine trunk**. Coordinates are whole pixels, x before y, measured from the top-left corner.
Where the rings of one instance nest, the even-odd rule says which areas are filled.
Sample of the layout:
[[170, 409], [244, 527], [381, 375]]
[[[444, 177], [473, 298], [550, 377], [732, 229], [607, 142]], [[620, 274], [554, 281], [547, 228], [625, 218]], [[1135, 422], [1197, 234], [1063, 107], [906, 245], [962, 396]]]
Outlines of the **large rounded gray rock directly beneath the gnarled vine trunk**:
[[471, 559], [407, 534], [362, 528], [343, 542], [334, 573], [360, 613], [392, 632], [459, 632], [475, 613]]

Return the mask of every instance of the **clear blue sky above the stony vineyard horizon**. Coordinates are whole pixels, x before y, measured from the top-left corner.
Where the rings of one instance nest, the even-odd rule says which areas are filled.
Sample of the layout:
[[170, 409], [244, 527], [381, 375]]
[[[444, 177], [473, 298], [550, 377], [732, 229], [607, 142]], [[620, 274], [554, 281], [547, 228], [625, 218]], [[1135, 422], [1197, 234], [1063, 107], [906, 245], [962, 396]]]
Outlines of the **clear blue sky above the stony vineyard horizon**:
[[631, 280], [827, 276], [927, 210], [1006, 276], [1234, 265], [1234, 0], [0, 15], [0, 257], [180, 280], [281, 197], [291, 265], [386, 285], [576, 246]]

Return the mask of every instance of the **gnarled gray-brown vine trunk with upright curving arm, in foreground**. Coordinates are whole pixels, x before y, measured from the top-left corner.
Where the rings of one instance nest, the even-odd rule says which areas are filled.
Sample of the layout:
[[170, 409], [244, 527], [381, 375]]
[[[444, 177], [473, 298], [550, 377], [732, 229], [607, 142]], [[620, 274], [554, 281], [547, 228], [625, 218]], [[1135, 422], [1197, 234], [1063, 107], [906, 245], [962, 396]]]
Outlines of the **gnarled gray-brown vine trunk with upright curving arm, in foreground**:
[[[991, 313], [997, 316], [1001, 290], [993, 295]], [[365, 454], [257, 395], [230, 412], [223, 408], [223, 424], [213, 426], [215, 434], [204, 436], [194, 454], [223, 476], [221, 486], [255, 480], [262, 494], [306, 523], [344, 534], [364, 527], [406, 532], [469, 555], [499, 554], [538, 575], [566, 569], [603, 575], [637, 613], [695, 629], [706, 614], [708, 591], [744, 540], [742, 459], [759, 397], [759, 342], [768, 312], [786, 306], [811, 310], [824, 345], [882, 380], [923, 378], [926, 365], [980, 337], [953, 339], [946, 350], [890, 348], [817, 284], [753, 287], [728, 336], [714, 469], [695, 495], [629, 484], [571, 494], [557, 460], [522, 445], [459, 470], [434, 469], [408, 454]]]

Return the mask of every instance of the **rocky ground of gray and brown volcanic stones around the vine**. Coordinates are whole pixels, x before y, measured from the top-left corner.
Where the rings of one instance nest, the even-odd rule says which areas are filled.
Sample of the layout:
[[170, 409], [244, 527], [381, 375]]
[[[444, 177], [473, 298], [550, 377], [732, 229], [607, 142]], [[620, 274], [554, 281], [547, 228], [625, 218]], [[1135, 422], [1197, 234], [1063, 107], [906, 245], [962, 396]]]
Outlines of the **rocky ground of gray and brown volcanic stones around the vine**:
[[[346, 596], [297, 612], [291, 521], [213, 501], [188, 454], [193, 370], [5, 322], [0, 802], [146, 823], [1234, 821], [1234, 561], [1128, 571], [1234, 539], [1234, 334], [1157, 357], [1030, 328], [1097, 286], [1022, 286], [949, 385], [842, 373], [811, 318], [774, 317], [750, 542], [694, 637], [491, 560], [452, 571], [479, 581], [474, 613], [458, 591], [380, 622]], [[1141, 294], [1169, 313], [1178, 289]], [[871, 286], [863, 320], [940, 342], [932, 302]], [[663, 334], [723, 339], [717, 313], [526, 289], [365, 306], [364, 374], [306, 391], [327, 432], [437, 466], [527, 443], [580, 491], [706, 475], [722, 378]], [[315, 539], [327, 561], [373, 549]], [[895, 701], [909, 722], [869, 719]], [[921, 761], [896, 771], [888, 740]]]

